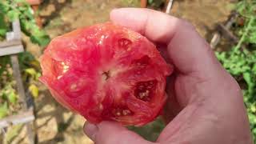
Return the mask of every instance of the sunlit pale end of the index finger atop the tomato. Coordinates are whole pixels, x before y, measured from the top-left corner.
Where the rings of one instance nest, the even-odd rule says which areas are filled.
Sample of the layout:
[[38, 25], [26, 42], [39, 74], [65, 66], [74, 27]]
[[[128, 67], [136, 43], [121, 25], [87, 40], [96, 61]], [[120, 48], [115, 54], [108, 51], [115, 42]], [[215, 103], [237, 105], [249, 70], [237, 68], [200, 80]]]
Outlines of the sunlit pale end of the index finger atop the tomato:
[[[136, 15], [136, 17], [134, 17]], [[178, 18], [169, 17], [169, 15], [148, 9], [122, 8], [112, 10], [110, 13], [112, 22], [129, 27], [146, 35], [154, 42], [167, 43], [174, 34], [175, 27], [179, 22]], [[170, 27], [170, 29], [166, 29]]]

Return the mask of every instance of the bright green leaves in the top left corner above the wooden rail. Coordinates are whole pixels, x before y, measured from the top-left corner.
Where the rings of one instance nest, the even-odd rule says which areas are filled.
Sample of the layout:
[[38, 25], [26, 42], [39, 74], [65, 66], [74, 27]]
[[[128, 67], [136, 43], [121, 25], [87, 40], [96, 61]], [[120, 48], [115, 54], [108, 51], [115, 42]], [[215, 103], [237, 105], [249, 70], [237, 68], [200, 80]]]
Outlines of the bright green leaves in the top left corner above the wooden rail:
[[19, 19], [22, 32], [30, 37], [31, 42], [39, 46], [46, 46], [50, 37], [41, 30], [34, 19], [34, 11], [25, 0], [2, 0], [0, 1], [0, 37], [4, 37], [9, 29], [8, 23]]

